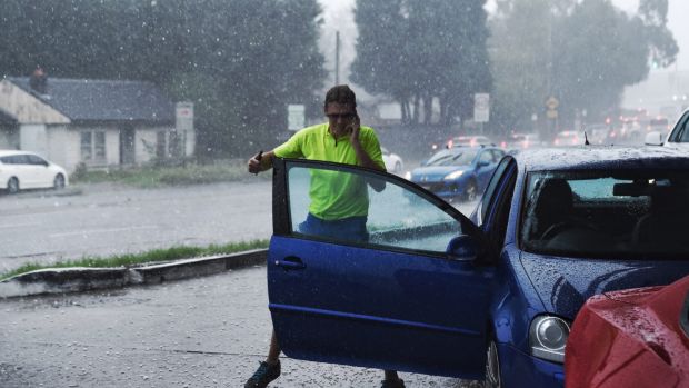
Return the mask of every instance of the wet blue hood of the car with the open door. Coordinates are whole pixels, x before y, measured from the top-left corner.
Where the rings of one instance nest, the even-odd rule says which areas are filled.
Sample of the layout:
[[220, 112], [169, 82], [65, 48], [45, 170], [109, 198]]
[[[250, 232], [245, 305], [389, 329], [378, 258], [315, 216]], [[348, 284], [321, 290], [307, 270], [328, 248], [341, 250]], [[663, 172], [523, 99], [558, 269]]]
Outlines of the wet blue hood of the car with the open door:
[[523, 252], [523, 266], [546, 311], [569, 319], [593, 295], [665, 286], [689, 273], [689, 261], [607, 261]]

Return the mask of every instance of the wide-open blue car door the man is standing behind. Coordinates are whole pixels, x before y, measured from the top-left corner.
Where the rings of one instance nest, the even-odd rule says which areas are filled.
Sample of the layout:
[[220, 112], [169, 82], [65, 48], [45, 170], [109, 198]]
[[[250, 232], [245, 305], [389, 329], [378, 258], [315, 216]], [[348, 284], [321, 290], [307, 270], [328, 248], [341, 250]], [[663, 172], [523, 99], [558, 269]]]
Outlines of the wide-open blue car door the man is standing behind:
[[[319, 175], [365, 182], [368, 239], [300, 228]], [[493, 268], [481, 265], [483, 240], [453, 207], [399, 177], [276, 159], [268, 294], [282, 351], [312, 361], [482, 378], [493, 279]]]

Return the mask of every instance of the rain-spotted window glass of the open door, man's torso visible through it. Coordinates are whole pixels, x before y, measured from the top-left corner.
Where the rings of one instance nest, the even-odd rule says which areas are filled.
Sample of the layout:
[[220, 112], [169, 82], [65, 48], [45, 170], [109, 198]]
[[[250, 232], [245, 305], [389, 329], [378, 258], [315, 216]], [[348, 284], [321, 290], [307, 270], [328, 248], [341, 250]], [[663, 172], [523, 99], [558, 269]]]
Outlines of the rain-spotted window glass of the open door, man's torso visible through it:
[[290, 232], [380, 248], [445, 253], [462, 233], [451, 207], [397, 177], [344, 166], [288, 165]]

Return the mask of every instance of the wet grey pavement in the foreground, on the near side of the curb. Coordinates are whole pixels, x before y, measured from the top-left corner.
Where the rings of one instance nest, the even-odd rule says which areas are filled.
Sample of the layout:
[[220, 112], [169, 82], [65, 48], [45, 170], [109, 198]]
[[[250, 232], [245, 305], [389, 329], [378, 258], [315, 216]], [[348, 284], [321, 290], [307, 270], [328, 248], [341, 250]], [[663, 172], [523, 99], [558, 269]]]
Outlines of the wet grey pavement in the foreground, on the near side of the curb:
[[[0, 299], [0, 387], [241, 387], [270, 336], [266, 268], [106, 294]], [[407, 387], [477, 382], [400, 374]], [[271, 387], [379, 387], [375, 369], [282, 360]]]

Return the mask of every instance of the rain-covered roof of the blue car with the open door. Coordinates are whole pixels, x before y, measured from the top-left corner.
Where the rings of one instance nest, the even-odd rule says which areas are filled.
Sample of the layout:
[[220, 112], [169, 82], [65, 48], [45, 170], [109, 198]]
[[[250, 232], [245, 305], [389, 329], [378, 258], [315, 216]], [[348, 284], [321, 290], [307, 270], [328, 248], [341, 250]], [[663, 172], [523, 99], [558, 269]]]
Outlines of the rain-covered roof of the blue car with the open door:
[[520, 150], [512, 155], [527, 171], [586, 170], [600, 168], [682, 168], [689, 156], [680, 150], [648, 146], [576, 146]]

